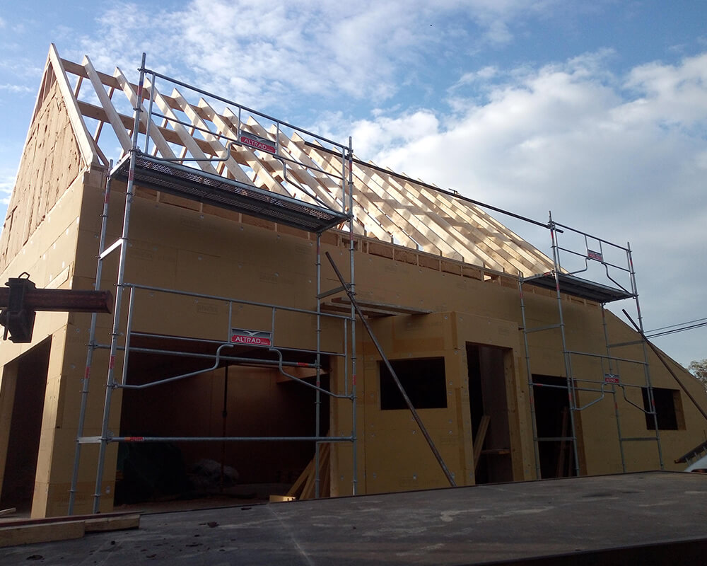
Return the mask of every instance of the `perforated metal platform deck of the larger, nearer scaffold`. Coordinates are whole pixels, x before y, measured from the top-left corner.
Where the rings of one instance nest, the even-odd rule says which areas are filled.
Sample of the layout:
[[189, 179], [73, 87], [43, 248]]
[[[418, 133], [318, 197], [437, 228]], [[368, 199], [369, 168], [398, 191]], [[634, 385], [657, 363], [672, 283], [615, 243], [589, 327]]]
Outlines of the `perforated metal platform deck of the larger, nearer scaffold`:
[[[129, 163], [126, 156], [113, 170], [113, 177], [127, 179]], [[325, 231], [348, 219], [343, 212], [141, 153], [135, 156], [134, 179], [142, 187], [310, 232]]]

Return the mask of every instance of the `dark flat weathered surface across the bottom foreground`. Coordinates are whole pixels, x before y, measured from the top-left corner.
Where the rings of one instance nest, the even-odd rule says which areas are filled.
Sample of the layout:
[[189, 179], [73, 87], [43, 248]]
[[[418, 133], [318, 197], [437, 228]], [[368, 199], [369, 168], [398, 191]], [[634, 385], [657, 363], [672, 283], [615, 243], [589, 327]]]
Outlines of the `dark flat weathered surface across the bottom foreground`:
[[[41, 557], [41, 558], [40, 558]], [[703, 564], [707, 475], [650, 472], [145, 514], [0, 564]]]

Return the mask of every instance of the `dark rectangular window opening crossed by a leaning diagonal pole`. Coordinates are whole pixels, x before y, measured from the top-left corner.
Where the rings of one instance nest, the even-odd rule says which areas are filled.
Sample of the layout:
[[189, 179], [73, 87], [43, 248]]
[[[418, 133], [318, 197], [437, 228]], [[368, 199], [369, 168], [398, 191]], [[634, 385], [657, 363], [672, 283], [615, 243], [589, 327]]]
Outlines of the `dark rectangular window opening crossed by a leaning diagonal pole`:
[[[387, 366], [380, 367], [380, 408], [407, 409], [405, 400]], [[394, 359], [390, 361], [395, 374], [416, 409], [447, 408], [444, 358]]]

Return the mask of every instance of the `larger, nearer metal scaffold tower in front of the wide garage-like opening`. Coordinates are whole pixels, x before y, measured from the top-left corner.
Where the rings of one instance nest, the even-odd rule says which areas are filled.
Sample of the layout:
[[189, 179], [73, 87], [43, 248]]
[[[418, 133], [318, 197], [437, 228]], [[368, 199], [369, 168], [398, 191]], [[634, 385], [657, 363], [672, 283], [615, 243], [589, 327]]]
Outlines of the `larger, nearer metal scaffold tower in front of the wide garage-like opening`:
[[[351, 138], [348, 144], [318, 136], [305, 129], [298, 128], [287, 122], [262, 114], [251, 108], [235, 103], [233, 100], [221, 98], [208, 91], [201, 90], [170, 76], [160, 74], [146, 68], [146, 55], [143, 54], [137, 93], [132, 92], [128, 84], [126, 92], [133, 103], [132, 137], [127, 139], [124, 129], [114, 128], [121, 142], [125, 155], [117, 166], [110, 163], [110, 173], [107, 175], [105, 201], [101, 215], [100, 243], [98, 264], [96, 268], [95, 289], [101, 285], [103, 262], [117, 253], [119, 255], [115, 310], [110, 333], [110, 343], [100, 343], [96, 337], [96, 315], [90, 323], [88, 352], [86, 355], [86, 373], [82, 380], [81, 406], [79, 413], [74, 468], [71, 478], [69, 495], [69, 514], [74, 512], [76, 490], [78, 485], [78, 470], [81, 461], [81, 446], [83, 444], [98, 444], [98, 465], [95, 476], [95, 492], [93, 494], [93, 512], [100, 509], [100, 497], [103, 485], [107, 446], [113, 442], [250, 442], [250, 441], [292, 441], [311, 442], [315, 445], [315, 497], [320, 496], [320, 446], [325, 443], [348, 442], [352, 446], [353, 470], [351, 474], [351, 490], [356, 495], [356, 324], [355, 300], [351, 301], [348, 314], [327, 313], [322, 311], [322, 299], [343, 291], [354, 297], [356, 287], [354, 282], [354, 190], [352, 177], [353, 149]], [[95, 74], [95, 73], [93, 73]], [[157, 89], [165, 84], [175, 89], [176, 86], [189, 89], [200, 97], [199, 112], [185, 110], [178, 114], [165, 103], [165, 97]], [[103, 88], [100, 92], [105, 96]], [[179, 95], [180, 96], [180, 95]], [[99, 93], [99, 98], [101, 94]], [[206, 102], [223, 106], [220, 113]], [[145, 104], [147, 108], [145, 108]], [[112, 108], [107, 103], [105, 108]], [[200, 113], [201, 112], [201, 113]], [[115, 111], [113, 111], [115, 113]], [[190, 114], [190, 115], [189, 115]], [[211, 120], [211, 127], [206, 124], [204, 116]], [[228, 120], [226, 120], [226, 117]], [[119, 122], [117, 115], [108, 112], [111, 122]], [[154, 119], [161, 120], [156, 125]], [[269, 131], [259, 126], [257, 120], [271, 124]], [[214, 127], [217, 125], [218, 127]], [[115, 126], [115, 124], [114, 124]], [[284, 131], [293, 132], [300, 137], [311, 140], [310, 143], [326, 147], [338, 156], [339, 173], [324, 171], [311, 159], [293, 156], [281, 146]], [[165, 139], [165, 132], [173, 134], [172, 140]], [[144, 141], [144, 144], [141, 142]], [[175, 149], [180, 149], [180, 155]], [[210, 148], [209, 154], [204, 148]], [[267, 188], [256, 187], [252, 178], [243, 173], [238, 163], [233, 161], [233, 149], [243, 150], [250, 156], [259, 152], [269, 163], [279, 167], [281, 183], [271, 183]], [[199, 168], [189, 166], [195, 163]], [[235, 167], [228, 168], [229, 162]], [[215, 166], [221, 166], [218, 171]], [[278, 165], [279, 164], [279, 165]], [[259, 167], [255, 160], [252, 168]], [[315, 194], [308, 190], [305, 183], [298, 183], [301, 171], [309, 171], [318, 178], [336, 178], [339, 183], [338, 195], [329, 192]], [[274, 177], [269, 175], [274, 181]], [[107, 219], [110, 201], [110, 185], [112, 182], [126, 183], [125, 206], [122, 214], [122, 233], [110, 245], [106, 245]], [[143, 188], [167, 192], [187, 200], [209, 204], [213, 207], [228, 209], [247, 214], [259, 219], [284, 224], [292, 228], [308, 231], [317, 235], [316, 243], [316, 308], [307, 310], [281, 306], [264, 302], [249, 301], [230, 296], [214, 296], [180, 289], [157, 287], [139, 282], [129, 282], [126, 279], [126, 263], [128, 259], [129, 228], [131, 223], [131, 207], [137, 185]], [[334, 227], [346, 227], [349, 231], [349, 282], [337, 289], [322, 290], [321, 251], [322, 233]], [[180, 298], [188, 301], [215, 301], [226, 305], [228, 316], [223, 320], [222, 339], [214, 340], [206, 336], [174, 336], [150, 328], [134, 328], [134, 313], [139, 309], [141, 301], [155, 303], [159, 297]], [[127, 319], [124, 321], [123, 303], [127, 302]], [[270, 328], [257, 332], [250, 329], [234, 328], [233, 312], [235, 308], [248, 308], [265, 313], [269, 318]], [[261, 316], [261, 319], [262, 317]], [[315, 347], [297, 347], [279, 343], [278, 331], [283, 324], [281, 320], [291, 316], [309, 317], [315, 320]], [[343, 343], [339, 350], [325, 350], [322, 344], [322, 328], [324, 325], [341, 325]], [[258, 354], [248, 356], [238, 355], [238, 344], [245, 341], [249, 351]], [[157, 347], [157, 345], [160, 345]], [[93, 357], [96, 350], [107, 350], [109, 362], [106, 371], [105, 400], [103, 403], [103, 419], [100, 436], [84, 436], [86, 412], [88, 408], [88, 384], [93, 371]], [[211, 362], [197, 371], [189, 371], [175, 376], [157, 379], [148, 383], [132, 383], [128, 371], [131, 353], [149, 353], [155, 356], [185, 356], [192, 359], [204, 359]], [[119, 354], [122, 354], [122, 371], [119, 371]], [[334, 393], [332, 388], [322, 387], [323, 359], [339, 357], [344, 359], [343, 392]], [[306, 437], [130, 437], [114, 434], [109, 429], [112, 394], [117, 389], [142, 390], [145, 388], [173, 383], [192, 376], [204, 374], [219, 367], [229, 365], [244, 365], [255, 367], [270, 367], [288, 379], [315, 390], [315, 434]], [[294, 375], [291, 368], [306, 369], [314, 372], [314, 383], [305, 381]], [[349, 374], [349, 371], [351, 374]], [[322, 395], [331, 398], [348, 399], [351, 402], [351, 434], [344, 436], [326, 436], [322, 434], [320, 422], [320, 405]]]

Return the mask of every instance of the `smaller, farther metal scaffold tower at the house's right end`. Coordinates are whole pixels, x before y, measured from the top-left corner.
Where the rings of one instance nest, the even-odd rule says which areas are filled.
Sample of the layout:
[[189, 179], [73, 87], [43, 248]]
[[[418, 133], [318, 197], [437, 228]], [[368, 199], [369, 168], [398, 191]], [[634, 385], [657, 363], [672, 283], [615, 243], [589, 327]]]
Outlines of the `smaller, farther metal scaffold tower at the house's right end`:
[[[520, 306], [522, 316], [522, 333], [525, 345], [525, 365], [527, 372], [528, 392], [530, 395], [530, 411], [532, 422], [532, 434], [535, 457], [535, 470], [537, 478], [542, 477], [540, 463], [540, 445], [542, 443], [560, 443], [564, 448], [569, 444], [572, 449], [572, 466], [574, 475], [580, 475], [580, 458], [577, 442], [577, 418], [578, 413], [586, 410], [610, 395], [614, 403], [614, 417], [617, 426], [617, 437], [619, 452], [621, 454], [621, 468], [626, 472], [626, 456], [624, 454], [624, 444], [627, 442], [655, 442], [658, 453], [660, 469], [664, 468], [662, 449], [660, 446], [660, 431], [658, 429], [658, 417], [655, 408], [653, 386], [650, 381], [650, 370], [648, 365], [648, 351], [644, 340], [630, 342], [612, 343], [609, 337], [607, 326], [606, 305], [615, 301], [633, 301], [637, 313], [638, 323], [636, 327], [643, 335], [643, 317], [641, 316], [641, 306], [638, 302], [638, 290], [636, 288], [636, 273], [633, 270], [633, 260], [631, 258], [631, 246], [619, 246], [597, 236], [575, 230], [569, 226], [559, 224], [549, 215], [547, 225], [552, 248], [552, 259], [554, 269], [540, 275], [523, 277], [522, 273], [518, 277], [518, 288], [520, 290]], [[563, 235], [570, 243], [561, 245], [559, 236]], [[566, 266], [563, 267], [562, 260]], [[578, 277], [578, 274], [591, 276], [592, 279]], [[594, 279], [603, 279], [604, 283]], [[549, 325], [540, 325], [529, 328], [527, 318], [527, 300], [523, 288], [525, 285], [541, 287], [555, 291], [557, 303], [557, 322]], [[580, 352], [572, 350], [568, 346], [568, 337], [565, 328], [565, 316], [563, 314], [563, 294], [566, 296], [578, 297], [593, 301], [600, 305], [602, 314], [602, 327], [604, 335], [604, 352]], [[561, 342], [561, 352], [564, 363], [564, 383], [542, 383], [536, 379], [531, 369], [531, 355], [529, 335], [537, 332], [555, 331], [559, 333]], [[630, 359], [621, 357], [614, 352], [633, 345], [641, 345], [641, 359]], [[619, 350], [620, 352], [620, 350]], [[578, 377], [573, 370], [573, 361], [576, 359], [590, 360], [594, 366], [592, 379]], [[577, 362], [575, 362], [577, 363]], [[630, 368], [639, 366], [642, 368], [643, 382], [636, 383], [626, 379], [623, 369], [628, 367], [626, 374], [631, 373]], [[639, 370], [640, 371], [640, 370]], [[568, 399], [568, 422], [563, 423], [562, 432], [559, 436], [541, 437], [537, 427], [537, 413], [535, 403], [535, 391], [538, 388], [555, 388], [566, 391]], [[638, 405], [629, 398], [627, 391], [640, 389], [642, 391], [644, 403]], [[580, 394], [591, 395], [590, 400], [585, 403], [580, 401]], [[653, 436], [625, 437], [621, 432], [621, 415], [619, 412], [619, 395], [631, 405], [631, 407], [641, 410], [646, 415], [646, 420], [653, 421], [655, 434]], [[558, 468], [560, 464], [558, 463]]]

